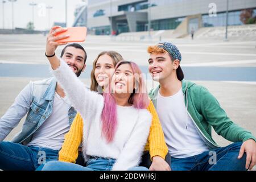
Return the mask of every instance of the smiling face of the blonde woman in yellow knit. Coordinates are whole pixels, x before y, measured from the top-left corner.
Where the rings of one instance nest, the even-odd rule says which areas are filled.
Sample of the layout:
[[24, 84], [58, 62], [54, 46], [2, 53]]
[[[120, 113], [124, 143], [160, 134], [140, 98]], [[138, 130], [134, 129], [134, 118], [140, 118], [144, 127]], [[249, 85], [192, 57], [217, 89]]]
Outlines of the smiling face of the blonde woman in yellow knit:
[[106, 87], [109, 84], [109, 78], [112, 77], [114, 73], [114, 61], [109, 55], [102, 55], [98, 58], [94, 76], [98, 85], [101, 87]]

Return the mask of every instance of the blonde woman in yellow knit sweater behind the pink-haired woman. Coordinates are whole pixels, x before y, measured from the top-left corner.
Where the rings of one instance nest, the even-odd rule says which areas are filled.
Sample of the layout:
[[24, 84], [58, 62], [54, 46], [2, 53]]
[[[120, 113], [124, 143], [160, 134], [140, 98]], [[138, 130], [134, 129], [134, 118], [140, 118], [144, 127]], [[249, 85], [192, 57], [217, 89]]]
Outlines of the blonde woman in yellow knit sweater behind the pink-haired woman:
[[[109, 79], [112, 77], [115, 65], [122, 61], [123, 57], [115, 51], [103, 51], [98, 54], [93, 61], [91, 72], [90, 90], [103, 93], [104, 88], [108, 88]], [[149, 168], [151, 171], [164, 171], [170, 169], [168, 161], [168, 147], [164, 140], [162, 126], [153, 103], [150, 101], [147, 110], [152, 115], [150, 134], [144, 147], [142, 162], [139, 166]], [[65, 135], [65, 140], [59, 151], [59, 161], [80, 164], [86, 166], [81, 153], [83, 119], [77, 113], [72, 122], [69, 132]], [[165, 159], [165, 160], [164, 160]]]

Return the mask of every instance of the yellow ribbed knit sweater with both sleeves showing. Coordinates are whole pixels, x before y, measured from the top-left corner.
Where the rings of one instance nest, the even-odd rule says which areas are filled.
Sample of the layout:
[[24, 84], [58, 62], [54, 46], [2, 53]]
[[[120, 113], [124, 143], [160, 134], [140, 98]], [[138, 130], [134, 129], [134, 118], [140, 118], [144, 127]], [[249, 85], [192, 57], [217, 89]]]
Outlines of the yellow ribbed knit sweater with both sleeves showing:
[[[144, 150], [150, 152], [151, 160], [152, 157], [156, 155], [161, 156], [164, 159], [166, 158], [168, 147], [164, 140], [162, 126], [152, 101], [150, 101], [147, 110], [150, 111], [152, 115], [152, 122], [150, 134], [148, 135], [147, 144]], [[79, 113], [77, 113], [71, 125], [71, 129], [65, 135], [63, 146], [59, 152], [59, 161], [70, 163], [76, 162], [79, 153], [79, 146], [82, 142], [82, 129], [82, 117]]]

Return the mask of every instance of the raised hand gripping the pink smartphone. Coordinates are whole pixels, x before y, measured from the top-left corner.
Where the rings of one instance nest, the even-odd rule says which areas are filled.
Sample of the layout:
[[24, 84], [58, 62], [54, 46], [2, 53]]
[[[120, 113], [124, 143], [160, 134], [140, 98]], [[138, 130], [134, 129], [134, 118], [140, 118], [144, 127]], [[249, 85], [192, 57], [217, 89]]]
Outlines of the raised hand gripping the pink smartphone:
[[68, 38], [69, 35], [55, 36], [56, 34], [59, 34], [60, 32], [65, 32], [67, 30], [68, 30], [67, 28], [62, 28], [60, 26], [55, 26], [51, 28], [51, 30], [49, 31], [49, 34], [47, 35], [46, 55], [48, 56], [53, 55], [58, 46], [67, 44], [67, 43], [57, 43], [56, 40]]

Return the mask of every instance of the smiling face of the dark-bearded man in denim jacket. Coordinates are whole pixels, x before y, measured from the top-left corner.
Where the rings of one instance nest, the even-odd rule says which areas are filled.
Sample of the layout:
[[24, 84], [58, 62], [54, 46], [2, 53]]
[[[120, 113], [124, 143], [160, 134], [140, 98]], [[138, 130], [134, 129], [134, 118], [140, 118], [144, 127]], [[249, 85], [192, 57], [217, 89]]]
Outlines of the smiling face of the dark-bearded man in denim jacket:
[[67, 47], [61, 58], [72, 68], [72, 71], [77, 77], [80, 76], [81, 72], [83, 72], [86, 67], [84, 63], [85, 53], [82, 49], [72, 46]]

